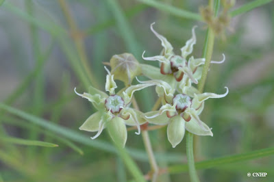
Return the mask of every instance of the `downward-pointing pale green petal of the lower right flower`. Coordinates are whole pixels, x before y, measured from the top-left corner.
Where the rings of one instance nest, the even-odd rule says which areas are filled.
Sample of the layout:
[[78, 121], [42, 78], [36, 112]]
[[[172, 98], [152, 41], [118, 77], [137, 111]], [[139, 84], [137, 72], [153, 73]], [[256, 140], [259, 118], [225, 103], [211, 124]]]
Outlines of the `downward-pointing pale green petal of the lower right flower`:
[[186, 122], [181, 116], [174, 116], [169, 121], [169, 125], [167, 126], [167, 138], [169, 139], [169, 142], [171, 142], [173, 148], [182, 142], [184, 138], [185, 123]]

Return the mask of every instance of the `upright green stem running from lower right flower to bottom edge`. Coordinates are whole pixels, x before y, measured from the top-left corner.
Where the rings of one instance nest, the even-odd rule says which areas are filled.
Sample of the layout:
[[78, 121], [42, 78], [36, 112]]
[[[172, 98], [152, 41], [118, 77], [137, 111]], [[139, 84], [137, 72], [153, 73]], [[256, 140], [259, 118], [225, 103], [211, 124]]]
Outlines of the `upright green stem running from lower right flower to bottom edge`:
[[193, 134], [190, 132], [186, 133], [186, 157], [188, 159], [190, 181], [199, 182], [199, 177], [195, 169], [195, 161], [193, 155]]

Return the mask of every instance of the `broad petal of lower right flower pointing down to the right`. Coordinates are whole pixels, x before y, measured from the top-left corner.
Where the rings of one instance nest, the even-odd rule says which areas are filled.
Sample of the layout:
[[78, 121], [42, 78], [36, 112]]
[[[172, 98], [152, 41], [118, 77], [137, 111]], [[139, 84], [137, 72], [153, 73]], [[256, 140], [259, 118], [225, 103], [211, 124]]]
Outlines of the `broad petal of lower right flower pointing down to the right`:
[[211, 129], [208, 127], [208, 125], [206, 125], [206, 123], [201, 122], [201, 125], [203, 125], [203, 128], [205, 128], [206, 131], [198, 125], [198, 122], [194, 118], [192, 118], [189, 122], [186, 122], [184, 127], [186, 128], [187, 131], [195, 135], [213, 136]]

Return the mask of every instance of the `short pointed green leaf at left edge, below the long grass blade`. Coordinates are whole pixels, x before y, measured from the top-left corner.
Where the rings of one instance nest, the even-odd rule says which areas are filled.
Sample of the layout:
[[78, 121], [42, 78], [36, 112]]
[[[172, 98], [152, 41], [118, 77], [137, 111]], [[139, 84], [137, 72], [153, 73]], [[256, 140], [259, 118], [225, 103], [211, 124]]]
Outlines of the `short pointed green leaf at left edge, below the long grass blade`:
[[56, 147], [58, 144], [51, 144], [49, 142], [41, 142], [37, 140], [25, 140], [22, 138], [13, 138], [13, 137], [1, 137], [2, 142], [8, 142], [12, 144], [21, 144], [21, 145], [31, 145], [31, 146], [47, 146], [47, 147]]

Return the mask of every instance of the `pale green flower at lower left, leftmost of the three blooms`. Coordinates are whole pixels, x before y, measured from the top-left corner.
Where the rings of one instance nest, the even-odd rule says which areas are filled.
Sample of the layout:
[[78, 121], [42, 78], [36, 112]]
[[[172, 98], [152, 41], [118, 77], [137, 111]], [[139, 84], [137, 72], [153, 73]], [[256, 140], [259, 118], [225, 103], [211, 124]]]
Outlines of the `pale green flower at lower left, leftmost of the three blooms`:
[[98, 110], [98, 112], [92, 114], [79, 129], [92, 132], [97, 131], [97, 134], [91, 137], [95, 139], [101, 134], [105, 127], [108, 127], [112, 140], [114, 140], [116, 144], [125, 146], [125, 142], [127, 141], [127, 129], [125, 125], [136, 126], [138, 128], [136, 134], [140, 134], [140, 125], [146, 122], [144, 118], [140, 117], [142, 112], [129, 107], [132, 96], [136, 90], [142, 90], [155, 84], [138, 84], [115, 93], [117, 86], [114, 81], [114, 75], [111, 75], [106, 67], [105, 69], [108, 71], [105, 91], [109, 92], [109, 95], [92, 86], [90, 86], [88, 93], [84, 92], [84, 94], [77, 93], [75, 88], [77, 95], [88, 99]]

